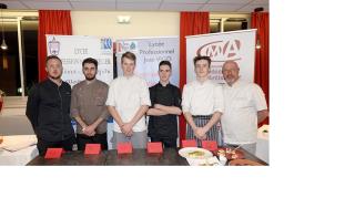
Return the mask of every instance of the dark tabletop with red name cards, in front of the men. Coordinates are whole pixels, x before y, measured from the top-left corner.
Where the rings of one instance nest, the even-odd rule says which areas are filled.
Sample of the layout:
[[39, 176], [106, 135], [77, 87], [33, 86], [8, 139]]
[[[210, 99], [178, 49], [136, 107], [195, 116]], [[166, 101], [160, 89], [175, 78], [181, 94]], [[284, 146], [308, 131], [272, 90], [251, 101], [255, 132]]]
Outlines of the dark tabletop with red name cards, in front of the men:
[[[148, 154], [146, 149], [133, 149], [132, 154], [118, 155], [115, 149], [103, 150], [99, 155], [84, 155], [83, 152], [65, 152], [59, 159], [44, 159], [38, 156], [32, 159], [28, 166], [42, 165], [97, 165], [97, 166], [189, 166], [185, 158], [181, 157], [178, 148], [164, 148], [163, 154]], [[265, 161], [258, 159], [246, 150], [244, 156], [246, 159], [255, 160], [263, 165]]]

